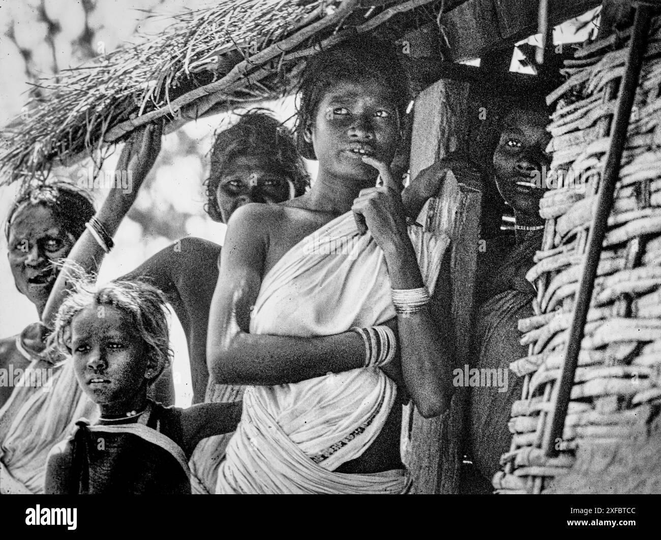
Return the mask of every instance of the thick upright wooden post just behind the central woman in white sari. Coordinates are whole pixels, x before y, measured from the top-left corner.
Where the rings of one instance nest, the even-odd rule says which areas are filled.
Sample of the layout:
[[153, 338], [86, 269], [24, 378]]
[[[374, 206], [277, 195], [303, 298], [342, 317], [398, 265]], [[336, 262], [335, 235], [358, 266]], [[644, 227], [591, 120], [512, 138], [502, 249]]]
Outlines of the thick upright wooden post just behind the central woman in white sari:
[[[466, 83], [438, 81], [418, 96], [411, 143], [412, 178], [447, 153], [467, 149], [468, 91]], [[451, 314], [457, 365], [467, 362], [472, 334], [481, 207], [478, 186], [479, 178], [448, 175], [438, 197], [426, 204], [421, 215], [428, 229], [444, 231], [451, 239]], [[402, 453], [413, 492], [457, 492], [466, 397], [465, 389], [457, 389], [449, 410], [437, 418], [425, 419], [411, 408], [405, 410]]]

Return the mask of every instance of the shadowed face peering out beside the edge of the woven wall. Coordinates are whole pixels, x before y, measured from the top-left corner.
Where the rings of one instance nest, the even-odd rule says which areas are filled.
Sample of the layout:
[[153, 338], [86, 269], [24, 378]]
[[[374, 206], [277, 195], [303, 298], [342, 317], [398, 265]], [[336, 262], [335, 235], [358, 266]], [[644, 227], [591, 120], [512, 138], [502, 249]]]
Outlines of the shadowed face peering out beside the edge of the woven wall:
[[513, 110], [505, 118], [494, 152], [500, 195], [516, 212], [530, 217], [539, 216], [539, 200], [547, 190], [542, 174], [543, 170], [548, 173], [551, 165], [545, 151], [551, 140], [547, 122], [542, 110]]

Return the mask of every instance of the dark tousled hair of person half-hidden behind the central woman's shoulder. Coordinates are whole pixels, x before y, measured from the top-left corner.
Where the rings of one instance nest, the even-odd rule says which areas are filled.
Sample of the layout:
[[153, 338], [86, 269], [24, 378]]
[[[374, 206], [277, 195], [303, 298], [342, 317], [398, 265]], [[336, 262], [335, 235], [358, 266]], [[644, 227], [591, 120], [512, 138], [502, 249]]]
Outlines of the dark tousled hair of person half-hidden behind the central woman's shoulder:
[[[239, 156], [254, 157], [270, 171], [292, 180], [295, 196], [305, 193], [310, 178], [296, 150], [292, 133], [266, 108], [250, 110], [239, 122], [215, 134], [211, 152], [212, 167], [224, 171]], [[221, 175], [205, 180], [207, 202], [204, 210], [214, 221], [223, 221], [216, 200]]]

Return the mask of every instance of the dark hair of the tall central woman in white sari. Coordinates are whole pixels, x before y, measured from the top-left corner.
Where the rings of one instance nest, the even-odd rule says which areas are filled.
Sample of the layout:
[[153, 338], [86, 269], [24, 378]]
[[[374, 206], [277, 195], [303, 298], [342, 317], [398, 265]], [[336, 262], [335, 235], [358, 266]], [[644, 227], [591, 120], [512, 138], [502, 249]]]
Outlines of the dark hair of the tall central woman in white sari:
[[304, 134], [315, 122], [321, 100], [332, 87], [355, 81], [377, 81], [384, 85], [403, 126], [411, 93], [399, 55], [389, 42], [373, 37], [353, 38], [315, 54], [301, 73], [294, 130], [296, 146], [303, 157], [316, 159]]

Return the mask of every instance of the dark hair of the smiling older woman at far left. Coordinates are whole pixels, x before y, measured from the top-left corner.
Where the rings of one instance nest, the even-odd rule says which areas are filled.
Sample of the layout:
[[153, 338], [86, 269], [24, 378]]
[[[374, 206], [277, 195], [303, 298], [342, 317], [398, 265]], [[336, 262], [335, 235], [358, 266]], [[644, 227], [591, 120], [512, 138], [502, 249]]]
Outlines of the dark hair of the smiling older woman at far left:
[[5, 237], [9, 239], [11, 222], [22, 208], [35, 204], [48, 206], [62, 223], [64, 229], [78, 239], [85, 231], [85, 223], [94, 217], [96, 210], [90, 194], [73, 184], [57, 180], [55, 182], [38, 182], [22, 188], [14, 200], [7, 221], [5, 222]]

